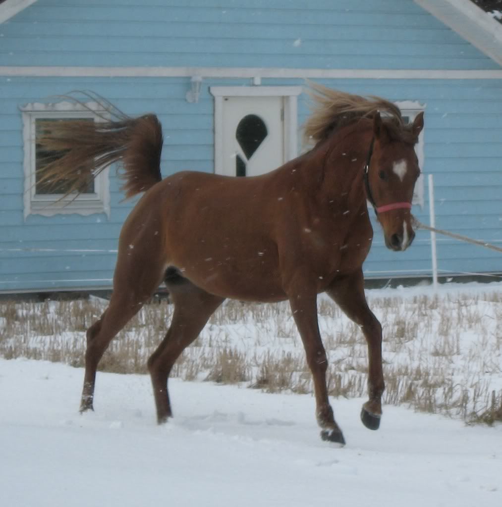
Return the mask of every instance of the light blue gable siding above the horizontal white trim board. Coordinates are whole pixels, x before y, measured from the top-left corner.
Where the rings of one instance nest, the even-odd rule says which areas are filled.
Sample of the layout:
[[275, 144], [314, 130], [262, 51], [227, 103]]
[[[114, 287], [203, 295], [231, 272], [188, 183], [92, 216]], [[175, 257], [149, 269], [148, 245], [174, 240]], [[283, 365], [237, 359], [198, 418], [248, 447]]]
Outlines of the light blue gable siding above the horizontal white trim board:
[[412, 0], [39, 0], [1, 31], [0, 65], [498, 68]]

